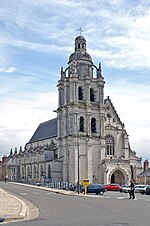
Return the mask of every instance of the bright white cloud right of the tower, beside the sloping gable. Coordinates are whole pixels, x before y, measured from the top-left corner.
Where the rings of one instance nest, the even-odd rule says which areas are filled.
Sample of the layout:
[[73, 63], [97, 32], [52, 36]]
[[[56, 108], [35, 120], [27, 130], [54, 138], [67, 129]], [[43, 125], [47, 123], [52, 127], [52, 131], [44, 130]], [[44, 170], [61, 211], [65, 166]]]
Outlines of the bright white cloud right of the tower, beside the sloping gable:
[[131, 148], [145, 157], [150, 148], [149, 90], [150, 84], [130, 84], [121, 80], [108, 84], [105, 90], [125, 124]]

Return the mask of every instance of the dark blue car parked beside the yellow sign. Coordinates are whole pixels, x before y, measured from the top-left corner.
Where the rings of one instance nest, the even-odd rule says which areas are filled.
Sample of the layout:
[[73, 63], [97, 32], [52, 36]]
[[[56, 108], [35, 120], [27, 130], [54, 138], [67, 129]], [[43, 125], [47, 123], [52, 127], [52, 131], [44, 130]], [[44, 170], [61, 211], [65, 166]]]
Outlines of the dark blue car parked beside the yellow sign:
[[[81, 192], [85, 192], [84, 187], [81, 188]], [[103, 195], [105, 192], [105, 188], [101, 184], [89, 184], [87, 186], [87, 193], [95, 193], [96, 195]]]

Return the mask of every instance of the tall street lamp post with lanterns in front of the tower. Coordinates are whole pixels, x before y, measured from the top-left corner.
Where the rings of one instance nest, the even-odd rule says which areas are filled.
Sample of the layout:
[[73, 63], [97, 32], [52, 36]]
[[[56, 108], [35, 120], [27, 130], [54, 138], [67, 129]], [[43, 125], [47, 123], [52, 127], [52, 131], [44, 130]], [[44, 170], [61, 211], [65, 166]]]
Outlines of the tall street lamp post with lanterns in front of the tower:
[[[78, 135], [77, 135], [77, 164], [78, 164], [78, 175], [77, 175], [77, 191], [78, 194], [80, 194], [80, 146], [79, 146], [79, 128], [78, 125], [75, 122], [72, 122], [76, 127], [77, 127], [77, 131], [78, 131]], [[69, 130], [69, 135], [68, 135], [68, 140], [71, 140], [72, 138], [72, 134], [70, 134], [70, 130]], [[86, 133], [85, 135], [85, 140], [86, 142], [89, 141], [89, 135]]]

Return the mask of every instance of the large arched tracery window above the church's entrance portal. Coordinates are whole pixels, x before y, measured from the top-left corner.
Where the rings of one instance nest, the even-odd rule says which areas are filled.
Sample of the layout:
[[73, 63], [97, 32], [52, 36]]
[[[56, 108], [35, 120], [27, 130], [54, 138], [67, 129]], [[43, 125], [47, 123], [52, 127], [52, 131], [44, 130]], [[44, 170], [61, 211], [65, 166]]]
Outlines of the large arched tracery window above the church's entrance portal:
[[106, 137], [106, 153], [107, 155], [115, 154], [115, 139], [111, 134], [108, 134]]

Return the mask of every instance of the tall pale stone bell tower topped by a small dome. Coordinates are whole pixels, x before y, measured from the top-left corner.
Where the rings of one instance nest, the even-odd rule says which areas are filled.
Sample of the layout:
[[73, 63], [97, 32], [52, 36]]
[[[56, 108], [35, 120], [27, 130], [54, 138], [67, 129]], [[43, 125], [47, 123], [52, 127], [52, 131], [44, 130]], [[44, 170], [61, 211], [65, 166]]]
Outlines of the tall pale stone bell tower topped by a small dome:
[[100, 180], [104, 144], [104, 78], [86, 50], [83, 36], [75, 38], [68, 67], [58, 81], [58, 155], [63, 181]]

